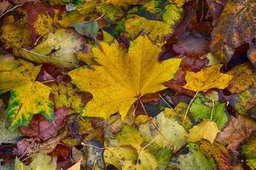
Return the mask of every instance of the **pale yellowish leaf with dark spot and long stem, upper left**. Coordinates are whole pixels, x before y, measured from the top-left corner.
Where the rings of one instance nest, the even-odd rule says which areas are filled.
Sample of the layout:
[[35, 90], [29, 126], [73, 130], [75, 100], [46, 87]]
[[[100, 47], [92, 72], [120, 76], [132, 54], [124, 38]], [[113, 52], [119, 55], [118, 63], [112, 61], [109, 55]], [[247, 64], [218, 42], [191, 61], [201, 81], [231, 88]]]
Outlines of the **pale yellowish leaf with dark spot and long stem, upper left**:
[[42, 64], [49, 63], [59, 67], [78, 66], [76, 53], [84, 47], [84, 39], [72, 30], [60, 29], [49, 33], [44, 42], [33, 49], [20, 48], [25, 59]]

